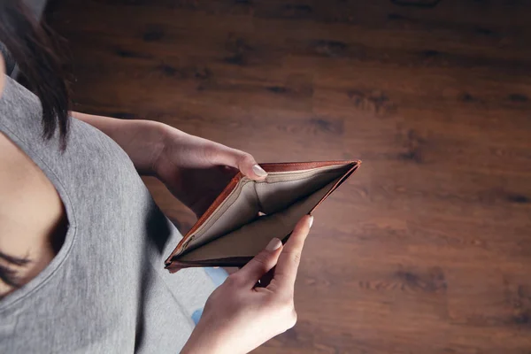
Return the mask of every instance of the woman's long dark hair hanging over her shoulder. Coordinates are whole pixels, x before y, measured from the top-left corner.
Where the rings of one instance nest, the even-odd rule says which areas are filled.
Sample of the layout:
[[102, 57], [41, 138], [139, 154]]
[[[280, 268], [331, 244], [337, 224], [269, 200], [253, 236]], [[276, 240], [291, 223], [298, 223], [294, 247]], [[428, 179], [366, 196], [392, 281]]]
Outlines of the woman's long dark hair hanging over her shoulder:
[[12, 54], [27, 89], [42, 104], [42, 137], [51, 139], [59, 127], [61, 150], [66, 148], [70, 95], [62, 45], [50, 27], [40, 25], [20, 0], [0, 0], [0, 42]]

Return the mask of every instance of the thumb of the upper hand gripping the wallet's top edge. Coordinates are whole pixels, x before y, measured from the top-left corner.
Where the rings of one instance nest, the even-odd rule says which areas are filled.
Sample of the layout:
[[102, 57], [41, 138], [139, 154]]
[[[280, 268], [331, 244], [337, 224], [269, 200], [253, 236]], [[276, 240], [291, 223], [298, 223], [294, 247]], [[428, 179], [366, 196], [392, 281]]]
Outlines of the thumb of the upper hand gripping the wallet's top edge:
[[221, 145], [212, 157], [214, 163], [220, 165], [229, 165], [240, 170], [245, 176], [251, 180], [264, 180], [266, 178], [266, 171], [258, 165], [255, 158], [247, 152], [228, 148]]

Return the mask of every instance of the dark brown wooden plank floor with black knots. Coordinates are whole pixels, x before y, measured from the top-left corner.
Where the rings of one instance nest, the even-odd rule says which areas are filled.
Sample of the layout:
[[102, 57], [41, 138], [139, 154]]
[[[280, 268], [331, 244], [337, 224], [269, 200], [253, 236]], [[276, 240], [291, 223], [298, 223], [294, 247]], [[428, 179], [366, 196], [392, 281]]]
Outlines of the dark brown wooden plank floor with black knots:
[[59, 0], [50, 22], [75, 110], [363, 159], [315, 215], [296, 327], [257, 353], [531, 352], [531, 3]]

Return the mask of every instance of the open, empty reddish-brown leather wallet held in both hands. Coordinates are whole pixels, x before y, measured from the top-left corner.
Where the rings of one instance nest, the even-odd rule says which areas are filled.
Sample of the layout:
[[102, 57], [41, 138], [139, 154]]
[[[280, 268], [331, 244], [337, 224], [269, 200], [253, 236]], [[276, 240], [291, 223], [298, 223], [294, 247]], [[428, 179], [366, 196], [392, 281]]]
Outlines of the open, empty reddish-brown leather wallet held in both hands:
[[171, 273], [191, 266], [244, 266], [274, 237], [286, 242], [354, 173], [361, 161], [261, 164], [264, 181], [237, 173], [165, 261]]

